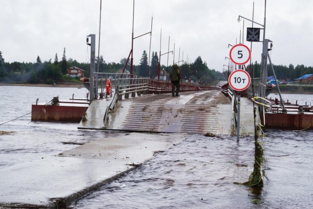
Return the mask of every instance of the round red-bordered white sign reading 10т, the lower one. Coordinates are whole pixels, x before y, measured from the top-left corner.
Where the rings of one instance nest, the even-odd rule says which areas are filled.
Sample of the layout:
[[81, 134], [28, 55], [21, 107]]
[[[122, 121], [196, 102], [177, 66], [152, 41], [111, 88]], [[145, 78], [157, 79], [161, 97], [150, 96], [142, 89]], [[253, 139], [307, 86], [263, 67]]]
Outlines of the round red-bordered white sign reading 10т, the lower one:
[[228, 83], [233, 90], [243, 91], [250, 85], [250, 75], [245, 70], [235, 70], [230, 73]]

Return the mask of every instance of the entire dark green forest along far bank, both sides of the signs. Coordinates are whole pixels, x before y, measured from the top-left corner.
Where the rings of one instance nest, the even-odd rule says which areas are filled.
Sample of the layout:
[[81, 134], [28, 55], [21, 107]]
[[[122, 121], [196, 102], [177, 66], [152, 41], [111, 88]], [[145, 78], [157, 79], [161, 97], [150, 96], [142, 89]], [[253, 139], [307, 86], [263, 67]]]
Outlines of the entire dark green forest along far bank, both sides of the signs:
[[[64, 48], [62, 60], [58, 61], [57, 54], [55, 54], [54, 60], [42, 62], [40, 56], [38, 55], [34, 59], [34, 63], [25, 62], [5, 62], [4, 54], [0, 51], [0, 82], [3, 83], [60, 83], [66, 81], [79, 82], [79, 78], [70, 78], [67, 75], [67, 70], [69, 67], [78, 67], [85, 71], [85, 77], [89, 77], [90, 74], [90, 64], [89, 63], [79, 63], [72, 58], [66, 58], [66, 51]], [[126, 58], [121, 59], [120, 63], [107, 63], [103, 56], [101, 55], [99, 59], [96, 59], [96, 66], [99, 60], [99, 72], [116, 73], [121, 72], [127, 62]], [[226, 80], [228, 75], [228, 70], [223, 72], [217, 71], [215, 69], [209, 69], [206, 62], [203, 62], [201, 56], [192, 63], [178, 63], [181, 71], [181, 78], [183, 82], [193, 82], [198, 81], [200, 84], [208, 84], [220, 80]], [[149, 66], [149, 67], [148, 67]], [[151, 60], [148, 62], [148, 54], [143, 51], [142, 58], [140, 59], [139, 65], [133, 65], [133, 74], [139, 75], [140, 77], [155, 78], [158, 75], [158, 69], [164, 69], [166, 72], [170, 73], [172, 65], [159, 66], [159, 56], [157, 52], [152, 52]], [[280, 81], [294, 81], [301, 77], [303, 74], [313, 73], [312, 67], [306, 67], [304, 65], [294, 65], [282, 66], [273, 65], [277, 78]], [[251, 78], [260, 77], [261, 65], [257, 62], [246, 65], [246, 70], [250, 73]], [[127, 63], [126, 70], [130, 70], [130, 61]], [[268, 76], [272, 75], [272, 70], [268, 70]]]

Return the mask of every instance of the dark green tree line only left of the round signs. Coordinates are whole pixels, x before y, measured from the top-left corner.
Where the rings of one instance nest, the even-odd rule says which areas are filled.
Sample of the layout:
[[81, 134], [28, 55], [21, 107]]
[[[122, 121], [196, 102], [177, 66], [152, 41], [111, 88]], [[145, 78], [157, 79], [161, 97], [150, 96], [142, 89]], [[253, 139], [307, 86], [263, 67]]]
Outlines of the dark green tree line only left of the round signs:
[[[127, 59], [121, 59], [120, 63], [106, 63], [103, 56], [96, 59], [96, 65], [99, 60], [99, 72], [116, 73], [122, 72], [124, 66], [126, 65]], [[216, 70], [211, 70], [207, 67], [207, 64], [201, 59], [201, 56], [193, 63], [181, 62], [180, 71], [182, 79], [186, 81], [199, 80], [204, 82], [212, 80], [222, 80], [223, 75], [221, 72]], [[89, 77], [90, 74], [90, 64], [89, 63], [79, 63], [73, 59], [66, 58], [66, 50], [64, 48], [62, 60], [58, 61], [57, 53], [55, 54], [54, 61], [50, 59], [49, 61], [42, 62], [40, 56], [37, 56], [36, 62], [25, 63], [25, 62], [5, 62], [2, 52], [0, 51], [0, 82], [5, 83], [46, 83], [52, 84], [62, 81], [69, 81], [71, 78], [66, 75], [68, 73], [69, 67], [78, 67], [84, 70], [85, 77]], [[172, 64], [169, 66], [161, 65], [159, 66], [159, 55], [157, 52], [152, 52], [151, 62], [148, 63], [148, 54], [143, 51], [142, 58], [139, 65], [133, 65], [133, 74], [139, 75], [140, 77], [153, 78], [156, 74], [158, 75], [158, 69], [164, 69], [170, 74], [172, 69]], [[130, 62], [126, 65], [126, 70], [129, 73]], [[76, 78], [79, 80], [79, 78]]]

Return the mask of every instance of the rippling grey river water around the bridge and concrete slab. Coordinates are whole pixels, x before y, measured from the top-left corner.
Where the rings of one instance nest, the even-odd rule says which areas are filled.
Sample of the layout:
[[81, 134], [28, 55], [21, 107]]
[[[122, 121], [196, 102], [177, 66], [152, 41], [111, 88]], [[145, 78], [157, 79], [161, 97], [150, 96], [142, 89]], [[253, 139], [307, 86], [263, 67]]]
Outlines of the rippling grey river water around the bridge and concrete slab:
[[[13, 131], [0, 136], [0, 169], [124, 135], [79, 130], [76, 123], [31, 122], [31, 104], [37, 98], [41, 104], [56, 96], [67, 101], [73, 93], [74, 98], [85, 98], [84, 88], [0, 86], [0, 91], [0, 130]], [[312, 95], [283, 94], [283, 99], [313, 104]], [[236, 136], [187, 135], [180, 144], [68, 208], [313, 208], [313, 131], [264, 132], [261, 189], [234, 184], [247, 181], [252, 172], [253, 136], [237, 142]]]

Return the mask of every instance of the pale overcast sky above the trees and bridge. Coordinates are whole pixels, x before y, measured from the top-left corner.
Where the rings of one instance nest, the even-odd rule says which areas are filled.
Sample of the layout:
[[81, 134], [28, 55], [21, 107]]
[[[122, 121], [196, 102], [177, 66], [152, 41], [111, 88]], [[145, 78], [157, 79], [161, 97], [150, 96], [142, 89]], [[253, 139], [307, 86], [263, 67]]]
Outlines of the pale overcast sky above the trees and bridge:
[[[169, 54], [169, 65], [201, 56], [210, 69], [228, 65], [228, 44], [240, 43], [251, 22], [238, 23], [238, 15], [264, 24], [264, 0], [135, 0], [134, 37], [151, 29], [151, 53]], [[0, 0], [0, 51], [5, 62], [36, 62], [67, 59], [89, 62], [86, 36], [96, 34], [99, 41], [100, 0]], [[313, 66], [313, 1], [267, 0], [265, 38], [273, 42], [271, 60], [276, 65]], [[107, 63], [119, 63], [131, 50], [132, 0], [102, 0], [100, 55]], [[243, 26], [245, 29], [243, 29]], [[254, 25], [255, 27], [259, 27]], [[161, 36], [162, 28], [162, 36]], [[261, 27], [262, 28], [262, 27]], [[263, 34], [261, 32], [261, 37]], [[242, 42], [242, 37], [241, 37]], [[149, 53], [150, 35], [134, 39], [133, 62]], [[174, 48], [175, 45], [175, 48]], [[179, 53], [180, 50], [180, 53]], [[252, 44], [252, 62], [261, 62], [262, 43]], [[180, 58], [179, 58], [180, 55]], [[187, 60], [188, 56], [188, 60]], [[161, 56], [167, 65], [167, 54]]]

